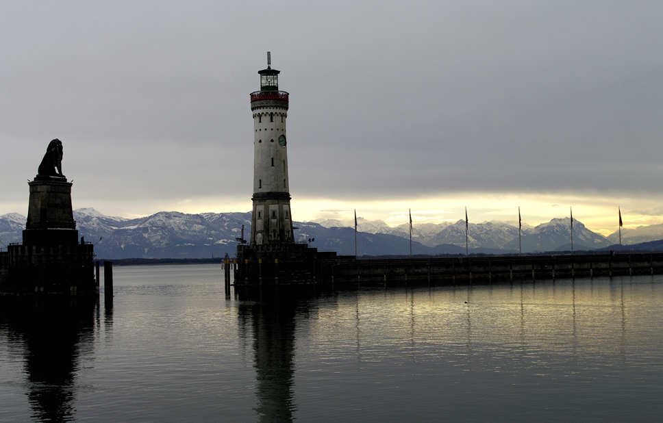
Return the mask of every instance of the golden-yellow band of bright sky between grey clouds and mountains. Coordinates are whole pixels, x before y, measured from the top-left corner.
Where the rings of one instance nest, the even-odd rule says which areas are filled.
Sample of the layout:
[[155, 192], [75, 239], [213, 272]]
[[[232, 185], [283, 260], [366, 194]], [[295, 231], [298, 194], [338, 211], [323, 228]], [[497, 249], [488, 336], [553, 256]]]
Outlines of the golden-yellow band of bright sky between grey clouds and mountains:
[[[137, 218], [158, 211], [181, 211], [182, 213], [204, 212], [246, 212], [251, 211], [251, 198], [204, 197], [177, 201], [174, 203], [108, 203], [84, 204], [73, 199], [74, 208], [95, 207], [109, 216]], [[467, 207], [471, 223], [499, 220], [518, 225], [518, 206], [521, 207], [523, 227], [536, 226], [553, 218], [568, 218], [569, 207], [573, 207], [573, 218], [584, 223], [591, 231], [608, 236], [617, 231], [617, 207], [621, 207], [625, 228], [633, 229], [643, 225], [656, 225], [663, 222], [663, 212], [658, 199], [648, 201], [642, 198], [604, 198], [600, 196], [553, 195], [553, 194], [495, 194], [460, 193], [436, 198], [412, 198], [410, 201], [341, 201], [329, 198], [310, 198], [292, 194], [292, 212], [296, 221], [319, 222], [338, 219], [347, 226], [353, 225], [354, 210], [357, 216], [366, 220], [383, 220], [395, 227], [408, 222], [408, 209], [412, 210], [412, 222], [441, 223], [455, 222], [465, 218]]]

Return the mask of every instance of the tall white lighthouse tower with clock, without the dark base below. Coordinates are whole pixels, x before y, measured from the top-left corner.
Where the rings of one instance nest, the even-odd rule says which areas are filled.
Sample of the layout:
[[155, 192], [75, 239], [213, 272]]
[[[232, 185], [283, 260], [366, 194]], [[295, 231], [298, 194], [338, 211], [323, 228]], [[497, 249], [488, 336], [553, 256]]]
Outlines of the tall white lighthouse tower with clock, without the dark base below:
[[260, 91], [251, 92], [253, 112], [253, 216], [251, 247], [294, 244], [288, 181], [288, 93], [279, 91], [279, 73], [260, 74]]

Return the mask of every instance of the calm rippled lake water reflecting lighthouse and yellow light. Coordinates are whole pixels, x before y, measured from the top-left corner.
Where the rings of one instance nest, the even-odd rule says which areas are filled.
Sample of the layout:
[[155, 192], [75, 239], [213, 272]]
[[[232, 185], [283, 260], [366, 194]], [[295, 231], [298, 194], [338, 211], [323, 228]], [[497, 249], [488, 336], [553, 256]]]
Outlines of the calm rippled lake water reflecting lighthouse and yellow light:
[[245, 299], [219, 265], [3, 302], [1, 422], [660, 422], [663, 277]]

